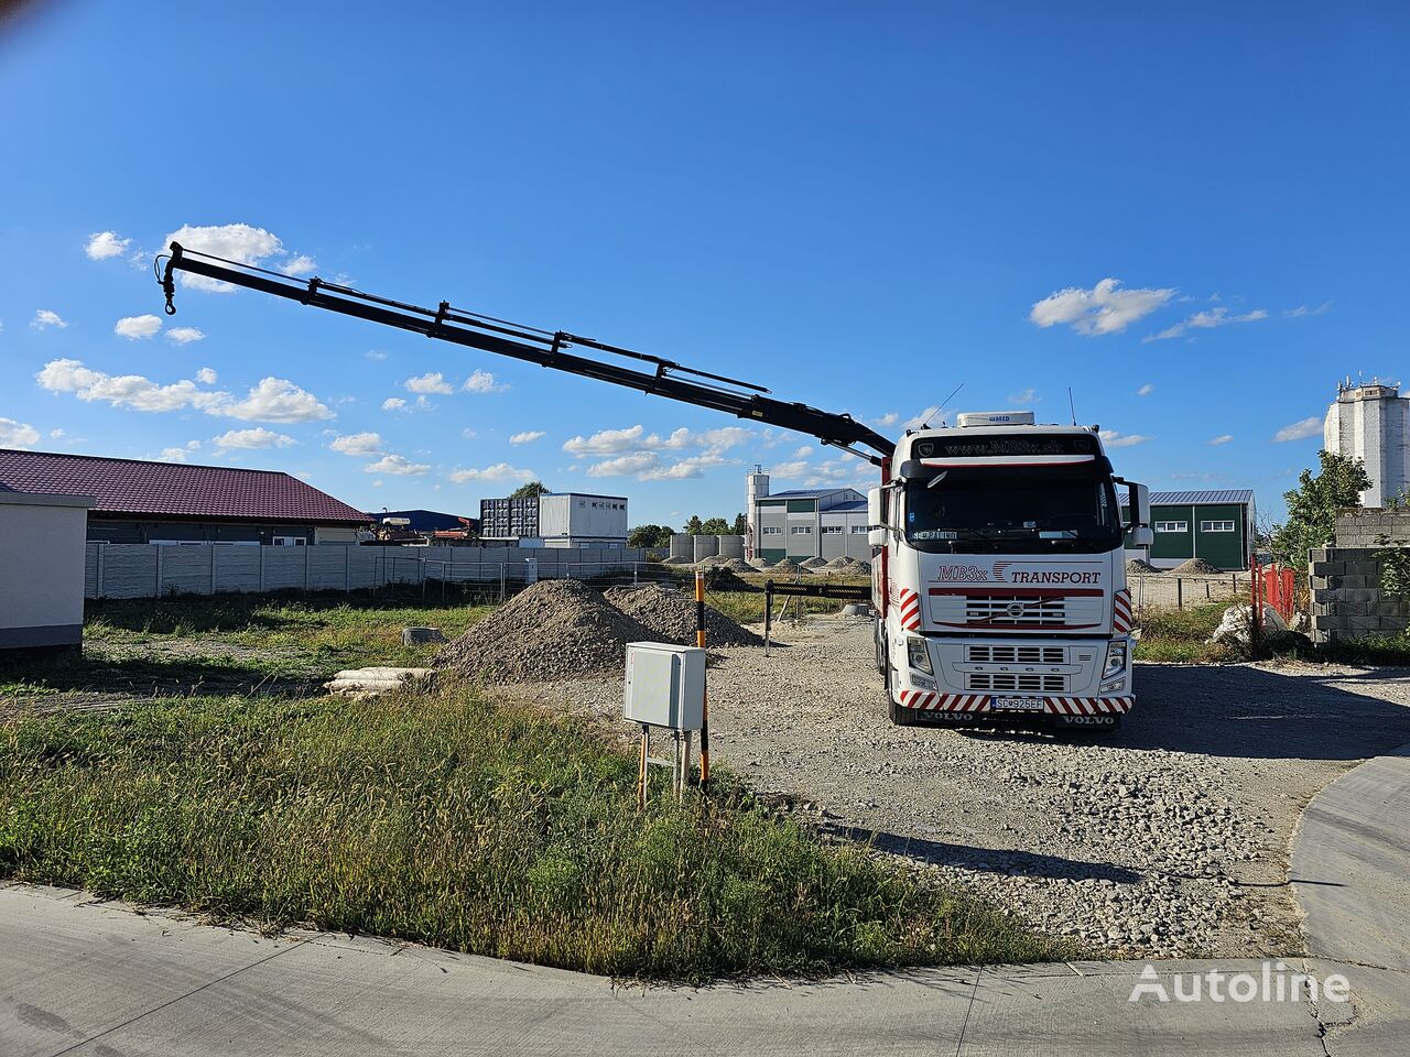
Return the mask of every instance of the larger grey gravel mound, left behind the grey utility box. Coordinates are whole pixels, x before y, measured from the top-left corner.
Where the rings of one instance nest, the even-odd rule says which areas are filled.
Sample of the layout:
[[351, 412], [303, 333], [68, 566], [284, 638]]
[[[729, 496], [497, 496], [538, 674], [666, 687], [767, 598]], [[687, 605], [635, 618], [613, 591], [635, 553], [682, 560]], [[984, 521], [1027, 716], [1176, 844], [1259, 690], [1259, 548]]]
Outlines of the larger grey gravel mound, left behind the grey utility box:
[[620, 671], [627, 643], [656, 637], [592, 588], [551, 579], [515, 595], [447, 644], [434, 664], [489, 682], [553, 682]]

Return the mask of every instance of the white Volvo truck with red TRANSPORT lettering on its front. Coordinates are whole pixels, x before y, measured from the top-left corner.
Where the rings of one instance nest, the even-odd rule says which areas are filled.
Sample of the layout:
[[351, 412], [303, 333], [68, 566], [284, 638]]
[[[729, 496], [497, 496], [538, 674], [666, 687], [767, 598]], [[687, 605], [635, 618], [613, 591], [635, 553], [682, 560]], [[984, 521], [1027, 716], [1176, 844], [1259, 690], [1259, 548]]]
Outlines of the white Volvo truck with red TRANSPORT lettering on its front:
[[867, 520], [891, 722], [1120, 726], [1135, 700], [1124, 538], [1149, 545], [1149, 492], [1112, 475], [1097, 427], [960, 414], [897, 441], [883, 475]]

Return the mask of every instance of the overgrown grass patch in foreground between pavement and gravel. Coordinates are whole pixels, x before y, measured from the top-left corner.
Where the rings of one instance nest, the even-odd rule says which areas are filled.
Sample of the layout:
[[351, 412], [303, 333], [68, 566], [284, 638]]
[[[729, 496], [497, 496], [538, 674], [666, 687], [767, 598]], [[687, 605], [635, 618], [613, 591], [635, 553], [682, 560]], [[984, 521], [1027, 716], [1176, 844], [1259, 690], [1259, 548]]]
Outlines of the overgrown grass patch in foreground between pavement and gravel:
[[[728, 778], [723, 781], [728, 782]], [[0, 874], [627, 977], [1072, 951], [723, 788], [634, 803], [580, 720], [465, 688], [0, 724]]]

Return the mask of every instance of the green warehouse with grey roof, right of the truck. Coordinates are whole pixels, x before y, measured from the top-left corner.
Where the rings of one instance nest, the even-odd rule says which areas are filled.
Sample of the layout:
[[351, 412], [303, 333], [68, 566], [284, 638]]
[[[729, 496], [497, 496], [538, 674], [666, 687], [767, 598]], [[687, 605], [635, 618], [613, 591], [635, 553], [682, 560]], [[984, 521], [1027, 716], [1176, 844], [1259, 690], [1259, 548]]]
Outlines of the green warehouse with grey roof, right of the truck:
[[[1124, 517], [1131, 516], [1121, 497]], [[1141, 558], [1158, 569], [1173, 569], [1190, 558], [1203, 558], [1221, 569], [1246, 569], [1253, 552], [1253, 492], [1225, 488], [1207, 492], [1152, 492], [1151, 547], [1132, 547], [1127, 558]]]

